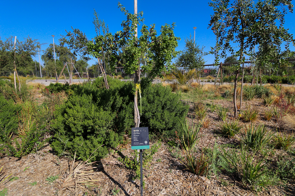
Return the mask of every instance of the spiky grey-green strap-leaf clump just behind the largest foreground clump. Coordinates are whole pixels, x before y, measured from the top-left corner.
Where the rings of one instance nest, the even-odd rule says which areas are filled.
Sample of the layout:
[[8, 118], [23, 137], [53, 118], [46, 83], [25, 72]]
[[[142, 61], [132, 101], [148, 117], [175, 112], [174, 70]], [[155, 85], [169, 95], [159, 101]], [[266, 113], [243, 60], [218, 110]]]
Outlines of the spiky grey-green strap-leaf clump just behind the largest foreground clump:
[[242, 143], [251, 149], [261, 149], [268, 145], [273, 135], [273, 133], [268, 133], [265, 125], [255, 127], [251, 123], [251, 125], [246, 126], [244, 133], [242, 133]]

